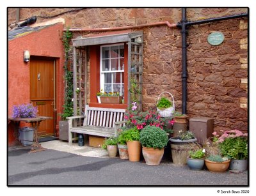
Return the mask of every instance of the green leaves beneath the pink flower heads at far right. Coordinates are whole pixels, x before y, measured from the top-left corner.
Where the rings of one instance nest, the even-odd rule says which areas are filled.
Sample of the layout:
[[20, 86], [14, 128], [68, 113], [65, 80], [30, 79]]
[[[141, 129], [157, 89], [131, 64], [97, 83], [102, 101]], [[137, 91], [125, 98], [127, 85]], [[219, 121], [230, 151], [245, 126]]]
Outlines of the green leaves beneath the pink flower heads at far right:
[[248, 158], [248, 144], [246, 137], [226, 138], [220, 143], [221, 155], [228, 158], [244, 160]]

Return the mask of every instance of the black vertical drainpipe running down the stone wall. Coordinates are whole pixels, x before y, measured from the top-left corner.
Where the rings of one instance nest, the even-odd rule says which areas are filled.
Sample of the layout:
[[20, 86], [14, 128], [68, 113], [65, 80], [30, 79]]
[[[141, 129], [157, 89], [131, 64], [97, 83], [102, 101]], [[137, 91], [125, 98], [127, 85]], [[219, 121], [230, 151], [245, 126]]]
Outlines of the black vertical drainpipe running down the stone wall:
[[188, 31], [186, 29], [187, 13], [186, 8], [182, 8], [182, 19], [181, 19], [181, 38], [182, 38], [182, 114], [186, 114], [187, 109], [187, 34]]

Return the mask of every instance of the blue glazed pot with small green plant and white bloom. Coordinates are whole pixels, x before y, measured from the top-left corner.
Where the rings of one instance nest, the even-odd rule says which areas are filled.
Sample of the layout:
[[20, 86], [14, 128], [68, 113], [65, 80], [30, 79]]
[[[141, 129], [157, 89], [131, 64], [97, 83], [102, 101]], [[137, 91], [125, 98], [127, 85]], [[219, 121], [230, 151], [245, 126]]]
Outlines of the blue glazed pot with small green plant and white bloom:
[[[199, 147], [199, 146], [198, 146]], [[189, 151], [187, 164], [191, 170], [201, 170], [204, 167], [205, 149], [194, 148]]]

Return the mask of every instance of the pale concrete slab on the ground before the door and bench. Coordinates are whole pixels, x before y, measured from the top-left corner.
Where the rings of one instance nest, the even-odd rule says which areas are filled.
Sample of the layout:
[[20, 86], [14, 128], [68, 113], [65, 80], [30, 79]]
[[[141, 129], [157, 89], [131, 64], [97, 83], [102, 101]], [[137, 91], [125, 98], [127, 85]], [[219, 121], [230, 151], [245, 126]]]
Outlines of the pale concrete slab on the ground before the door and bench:
[[52, 140], [49, 142], [40, 143], [42, 147], [46, 149], [53, 149], [56, 151], [62, 151], [66, 153], [72, 153], [81, 156], [109, 158], [108, 151], [99, 147], [91, 147], [88, 145], [78, 146], [78, 143], [73, 143], [71, 146], [68, 142], [62, 140]]

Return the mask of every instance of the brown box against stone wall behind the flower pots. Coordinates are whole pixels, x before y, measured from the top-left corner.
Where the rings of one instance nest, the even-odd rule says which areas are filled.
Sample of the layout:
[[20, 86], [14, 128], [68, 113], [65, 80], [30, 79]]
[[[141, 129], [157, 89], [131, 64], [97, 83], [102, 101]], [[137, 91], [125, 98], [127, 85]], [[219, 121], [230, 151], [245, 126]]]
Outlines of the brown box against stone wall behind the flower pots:
[[189, 131], [195, 133], [197, 142], [203, 144], [212, 137], [213, 119], [209, 117], [192, 117], [189, 119]]

